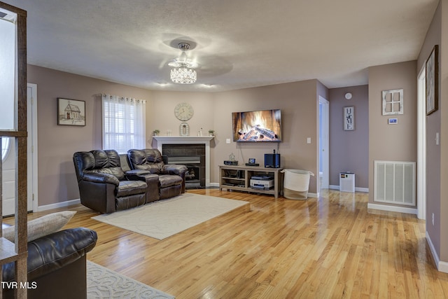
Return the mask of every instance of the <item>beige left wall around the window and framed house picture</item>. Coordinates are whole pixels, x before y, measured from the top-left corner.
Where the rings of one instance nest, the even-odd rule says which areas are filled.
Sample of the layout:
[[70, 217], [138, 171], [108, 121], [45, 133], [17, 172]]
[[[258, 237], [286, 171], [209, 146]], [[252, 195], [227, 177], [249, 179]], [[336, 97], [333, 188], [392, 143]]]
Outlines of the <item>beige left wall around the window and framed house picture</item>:
[[[29, 65], [37, 84], [38, 205], [79, 198], [73, 153], [102, 148], [101, 93], [150, 99], [151, 91]], [[57, 98], [85, 101], [85, 127], [57, 125]], [[148, 103], [151, 109], [151, 102]], [[149, 144], [148, 144], [149, 146]]]

